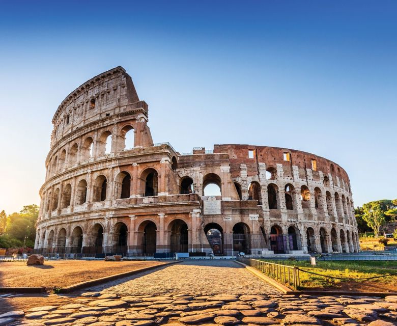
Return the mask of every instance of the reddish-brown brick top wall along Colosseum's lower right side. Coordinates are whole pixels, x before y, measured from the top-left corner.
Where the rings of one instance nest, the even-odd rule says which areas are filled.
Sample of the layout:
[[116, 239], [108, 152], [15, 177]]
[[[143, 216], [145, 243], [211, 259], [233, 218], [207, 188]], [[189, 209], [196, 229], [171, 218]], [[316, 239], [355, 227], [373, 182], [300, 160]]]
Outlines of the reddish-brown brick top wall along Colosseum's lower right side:
[[[253, 151], [253, 158], [249, 158], [248, 151]], [[265, 163], [266, 168], [276, 168], [277, 164], [281, 164], [284, 176], [291, 176], [292, 166], [299, 168], [299, 176], [305, 178], [306, 169], [313, 170], [311, 160], [316, 160], [316, 171], [313, 171], [313, 179], [319, 180], [319, 172], [324, 175], [331, 174], [332, 177], [338, 177], [344, 180], [350, 186], [350, 180], [346, 171], [335, 162], [324, 157], [303, 152], [299, 150], [269, 146], [254, 145], [214, 145], [214, 153], [228, 153], [230, 157], [231, 173], [233, 177], [237, 177], [240, 173], [240, 165], [247, 166], [247, 175], [253, 176], [258, 174], [258, 164]], [[284, 153], [290, 154], [290, 160], [284, 159]], [[335, 181], [335, 180], [334, 180]]]

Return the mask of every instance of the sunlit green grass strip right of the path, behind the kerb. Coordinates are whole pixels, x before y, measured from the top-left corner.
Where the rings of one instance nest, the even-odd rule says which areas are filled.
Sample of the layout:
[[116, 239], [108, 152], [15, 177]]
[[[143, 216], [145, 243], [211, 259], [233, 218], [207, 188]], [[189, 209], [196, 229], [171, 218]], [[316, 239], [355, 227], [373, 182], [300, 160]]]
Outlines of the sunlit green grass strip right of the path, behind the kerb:
[[[269, 260], [268, 262], [297, 266], [327, 277], [357, 279], [397, 273], [397, 261], [318, 261], [316, 266], [311, 266], [308, 261]], [[299, 272], [299, 277], [300, 285], [303, 288], [337, 287], [339, 283], [349, 282], [349, 280], [330, 279], [301, 271]], [[355, 280], [354, 282], [362, 282], [362, 280]], [[397, 275], [373, 279], [371, 282], [396, 284]]]

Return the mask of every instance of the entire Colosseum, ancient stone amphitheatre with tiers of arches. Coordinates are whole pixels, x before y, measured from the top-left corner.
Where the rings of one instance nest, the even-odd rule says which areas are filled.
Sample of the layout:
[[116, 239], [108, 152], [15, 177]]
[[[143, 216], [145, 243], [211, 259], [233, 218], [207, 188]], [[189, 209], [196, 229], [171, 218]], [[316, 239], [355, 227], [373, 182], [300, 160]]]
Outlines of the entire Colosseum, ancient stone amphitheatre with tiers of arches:
[[116, 67], [53, 116], [35, 251], [103, 257], [357, 252], [350, 181], [326, 158], [255, 145], [154, 144]]

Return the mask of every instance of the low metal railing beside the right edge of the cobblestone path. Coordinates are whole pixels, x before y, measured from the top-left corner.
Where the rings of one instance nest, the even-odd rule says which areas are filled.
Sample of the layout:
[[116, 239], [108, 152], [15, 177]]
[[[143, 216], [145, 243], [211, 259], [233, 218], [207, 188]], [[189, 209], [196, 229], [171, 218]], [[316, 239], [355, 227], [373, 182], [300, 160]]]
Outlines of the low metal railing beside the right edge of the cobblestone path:
[[299, 270], [295, 266], [269, 263], [267, 261], [245, 257], [237, 257], [237, 260], [258, 269], [271, 279], [286, 284], [295, 290], [300, 287]]

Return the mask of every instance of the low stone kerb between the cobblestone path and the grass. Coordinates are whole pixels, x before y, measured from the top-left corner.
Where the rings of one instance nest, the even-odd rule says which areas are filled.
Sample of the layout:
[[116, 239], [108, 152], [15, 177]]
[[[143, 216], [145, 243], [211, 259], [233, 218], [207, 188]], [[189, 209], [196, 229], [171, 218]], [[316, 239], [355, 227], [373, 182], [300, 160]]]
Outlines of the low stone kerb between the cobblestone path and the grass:
[[248, 271], [250, 271], [253, 275], [256, 277], [264, 280], [265, 282], [270, 283], [273, 285], [275, 288], [280, 290], [281, 292], [284, 292], [285, 294], [308, 294], [308, 295], [353, 295], [353, 296], [387, 296], [387, 295], [397, 295], [397, 292], [356, 292], [356, 291], [325, 291], [325, 290], [318, 290], [318, 291], [310, 291], [310, 290], [302, 290], [302, 291], [295, 291], [293, 289], [290, 289], [289, 287], [278, 283], [276, 280], [273, 280], [269, 278], [268, 276], [262, 274], [260, 271], [258, 271], [255, 268], [252, 268], [251, 266], [248, 266], [240, 261], [235, 260], [236, 263], [244, 266]]

